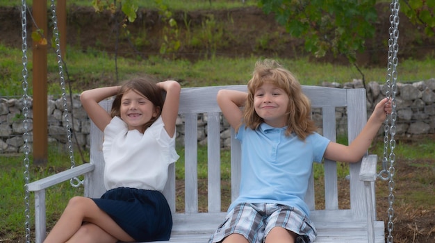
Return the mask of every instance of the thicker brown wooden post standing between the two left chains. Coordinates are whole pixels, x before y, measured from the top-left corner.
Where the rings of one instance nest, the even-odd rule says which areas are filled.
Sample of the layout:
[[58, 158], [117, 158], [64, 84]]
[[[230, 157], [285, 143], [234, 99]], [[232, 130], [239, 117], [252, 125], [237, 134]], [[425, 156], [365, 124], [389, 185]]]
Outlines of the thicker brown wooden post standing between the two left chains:
[[[47, 1], [33, 0], [33, 31], [40, 28], [47, 37]], [[33, 163], [47, 164], [48, 126], [47, 126], [47, 44], [33, 40]]]

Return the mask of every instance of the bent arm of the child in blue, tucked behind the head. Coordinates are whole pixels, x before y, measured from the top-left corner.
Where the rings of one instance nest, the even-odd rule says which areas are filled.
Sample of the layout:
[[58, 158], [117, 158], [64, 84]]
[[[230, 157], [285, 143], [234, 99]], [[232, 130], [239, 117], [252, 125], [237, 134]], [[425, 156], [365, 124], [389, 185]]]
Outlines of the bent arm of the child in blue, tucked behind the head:
[[219, 90], [216, 99], [222, 114], [237, 132], [243, 117], [240, 107], [245, 106], [247, 93], [236, 90]]

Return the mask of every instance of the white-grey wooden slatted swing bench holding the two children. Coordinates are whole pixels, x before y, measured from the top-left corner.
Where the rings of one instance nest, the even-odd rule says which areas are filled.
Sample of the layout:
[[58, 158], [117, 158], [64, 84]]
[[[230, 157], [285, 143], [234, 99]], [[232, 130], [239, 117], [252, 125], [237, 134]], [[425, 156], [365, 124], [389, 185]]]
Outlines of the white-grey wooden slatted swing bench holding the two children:
[[[170, 242], [207, 242], [208, 237], [222, 223], [220, 190], [220, 108], [215, 101], [222, 88], [246, 90], [246, 85], [193, 87], [181, 90], [179, 114], [185, 119], [185, 212], [175, 212], [175, 169], [170, 166], [169, 180], [164, 194], [173, 212], [174, 226]], [[354, 140], [367, 120], [366, 90], [336, 89], [304, 86], [313, 108], [322, 108], [322, 133], [336, 140], [336, 108], [347, 109], [348, 140]], [[101, 106], [110, 109], [111, 101]], [[208, 116], [208, 212], [198, 212], [197, 183], [197, 114]], [[240, 177], [240, 144], [231, 134], [231, 199], [238, 195]], [[90, 135], [90, 163], [68, 169], [28, 184], [35, 193], [35, 237], [42, 242], [46, 234], [45, 190], [52, 185], [85, 175], [85, 196], [99, 197], [104, 193], [104, 158], [101, 151], [102, 133], [92, 124]], [[318, 229], [315, 242], [384, 242], [384, 221], [376, 220], [375, 179], [377, 156], [365, 156], [350, 165], [350, 209], [338, 208], [336, 162], [325, 161], [325, 209], [316, 210], [313, 176], [309, 182], [306, 203], [311, 219]], [[316, 194], [317, 195], [317, 194]]]

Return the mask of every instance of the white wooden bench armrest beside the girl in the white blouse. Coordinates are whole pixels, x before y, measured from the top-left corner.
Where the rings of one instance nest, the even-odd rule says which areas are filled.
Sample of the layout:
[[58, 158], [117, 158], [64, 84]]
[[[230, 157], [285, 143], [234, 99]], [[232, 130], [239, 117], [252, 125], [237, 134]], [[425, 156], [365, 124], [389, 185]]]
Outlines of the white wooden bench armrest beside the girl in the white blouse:
[[47, 189], [53, 185], [57, 185], [58, 183], [62, 183], [76, 176], [81, 176], [85, 173], [88, 173], [94, 169], [94, 165], [92, 164], [83, 164], [72, 169], [67, 169], [66, 171], [62, 171], [58, 174], [54, 174], [52, 176], [48, 176], [46, 178], [42, 178], [38, 181], [34, 181], [32, 183], [28, 183], [27, 188], [30, 192], [38, 192], [40, 190]]

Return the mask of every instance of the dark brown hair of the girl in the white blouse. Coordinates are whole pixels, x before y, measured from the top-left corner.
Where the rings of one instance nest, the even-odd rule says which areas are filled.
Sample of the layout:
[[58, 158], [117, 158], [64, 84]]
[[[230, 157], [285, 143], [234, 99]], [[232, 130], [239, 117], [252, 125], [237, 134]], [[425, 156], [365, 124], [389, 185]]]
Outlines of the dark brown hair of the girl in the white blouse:
[[141, 77], [141, 78], [133, 78], [129, 81], [126, 81], [120, 88], [120, 92], [115, 96], [115, 100], [112, 103], [112, 110], [110, 111], [110, 115], [112, 117], [120, 117], [120, 109], [121, 109], [121, 99], [125, 92], [133, 90], [140, 95], [143, 95], [151, 103], [154, 104], [154, 108], [156, 108], [158, 115], [156, 117], [152, 117], [146, 124], [143, 126], [143, 131], [145, 131], [151, 124], [158, 119], [160, 116], [161, 110], [163, 108], [163, 90], [156, 85], [156, 81], [153, 78]]

